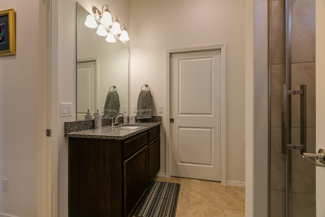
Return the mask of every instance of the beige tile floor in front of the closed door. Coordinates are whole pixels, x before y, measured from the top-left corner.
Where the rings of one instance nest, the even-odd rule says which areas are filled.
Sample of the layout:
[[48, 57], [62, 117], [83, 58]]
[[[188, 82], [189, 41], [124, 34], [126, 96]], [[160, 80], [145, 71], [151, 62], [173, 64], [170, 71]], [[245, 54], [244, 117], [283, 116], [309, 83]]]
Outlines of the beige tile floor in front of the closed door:
[[179, 177], [157, 177], [156, 181], [181, 184], [176, 217], [245, 216], [245, 188], [220, 182]]

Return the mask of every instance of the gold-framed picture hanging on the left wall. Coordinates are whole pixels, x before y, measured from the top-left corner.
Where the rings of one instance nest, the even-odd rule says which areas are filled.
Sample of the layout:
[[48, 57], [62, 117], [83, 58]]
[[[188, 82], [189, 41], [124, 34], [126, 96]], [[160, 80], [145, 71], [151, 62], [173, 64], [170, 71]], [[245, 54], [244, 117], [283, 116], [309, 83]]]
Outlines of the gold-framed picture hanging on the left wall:
[[16, 55], [15, 11], [0, 12], [0, 56]]

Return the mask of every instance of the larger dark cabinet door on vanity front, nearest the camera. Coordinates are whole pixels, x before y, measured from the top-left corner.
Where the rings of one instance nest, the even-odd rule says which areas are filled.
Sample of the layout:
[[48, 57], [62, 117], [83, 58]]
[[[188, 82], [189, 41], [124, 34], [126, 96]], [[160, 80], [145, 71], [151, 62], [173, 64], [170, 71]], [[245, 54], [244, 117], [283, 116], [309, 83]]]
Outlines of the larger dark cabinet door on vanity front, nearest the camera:
[[148, 146], [124, 161], [124, 215], [130, 216], [148, 187]]

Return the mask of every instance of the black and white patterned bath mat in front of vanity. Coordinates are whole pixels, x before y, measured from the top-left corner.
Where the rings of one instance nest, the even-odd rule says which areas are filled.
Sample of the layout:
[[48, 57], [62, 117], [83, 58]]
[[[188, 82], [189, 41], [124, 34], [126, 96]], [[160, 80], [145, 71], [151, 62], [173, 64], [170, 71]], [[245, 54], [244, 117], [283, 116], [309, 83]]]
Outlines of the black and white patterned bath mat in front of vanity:
[[154, 181], [137, 208], [135, 215], [138, 217], [174, 217], [179, 189], [180, 184], [178, 183]]

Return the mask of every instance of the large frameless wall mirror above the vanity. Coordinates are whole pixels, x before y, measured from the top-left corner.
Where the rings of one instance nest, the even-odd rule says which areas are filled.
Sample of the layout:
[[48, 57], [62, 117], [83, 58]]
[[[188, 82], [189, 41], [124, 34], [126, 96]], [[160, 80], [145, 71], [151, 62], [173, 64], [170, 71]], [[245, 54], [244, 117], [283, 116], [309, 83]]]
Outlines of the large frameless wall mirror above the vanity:
[[[77, 7], [77, 120], [85, 119], [87, 109], [94, 114], [104, 106], [109, 91], [117, 91], [119, 112], [128, 111], [128, 47], [116, 38], [115, 43], [96, 34], [84, 22], [88, 12]], [[114, 87], [116, 86], [116, 87]], [[112, 115], [106, 115], [112, 116]]]

